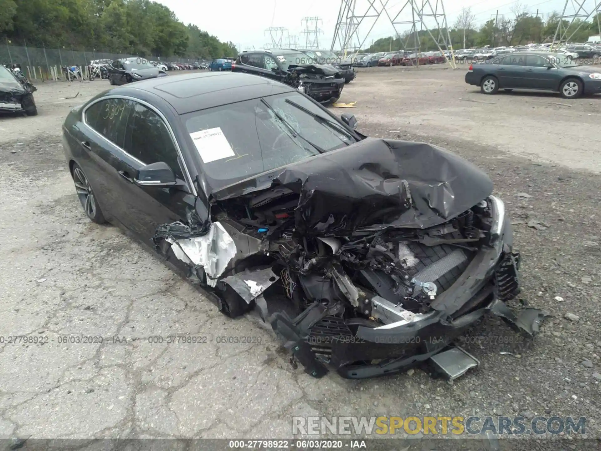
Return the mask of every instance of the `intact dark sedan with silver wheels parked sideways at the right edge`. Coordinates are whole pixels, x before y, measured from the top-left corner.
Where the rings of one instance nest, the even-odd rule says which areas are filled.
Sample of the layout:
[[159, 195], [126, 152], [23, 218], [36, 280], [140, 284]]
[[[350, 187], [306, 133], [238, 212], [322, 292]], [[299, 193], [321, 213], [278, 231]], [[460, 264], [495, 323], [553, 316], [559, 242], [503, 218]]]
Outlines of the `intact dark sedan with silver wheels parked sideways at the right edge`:
[[565, 99], [601, 93], [601, 68], [581, 66], [563, 54], [515, 52], [469, 66], [465, 82], [480, 86], [484, 94], [499, 89], [554, 91]]

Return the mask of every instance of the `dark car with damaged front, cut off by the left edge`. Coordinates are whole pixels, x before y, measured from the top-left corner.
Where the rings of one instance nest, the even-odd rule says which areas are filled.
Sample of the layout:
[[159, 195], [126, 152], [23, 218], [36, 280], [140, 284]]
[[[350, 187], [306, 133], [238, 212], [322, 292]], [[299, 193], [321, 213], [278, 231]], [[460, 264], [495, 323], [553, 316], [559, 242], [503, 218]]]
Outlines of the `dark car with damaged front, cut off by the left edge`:
[[0, 112], [37, 115], [35, 91], [37, 88], [20, 70], [14, 71], [0, 64]]

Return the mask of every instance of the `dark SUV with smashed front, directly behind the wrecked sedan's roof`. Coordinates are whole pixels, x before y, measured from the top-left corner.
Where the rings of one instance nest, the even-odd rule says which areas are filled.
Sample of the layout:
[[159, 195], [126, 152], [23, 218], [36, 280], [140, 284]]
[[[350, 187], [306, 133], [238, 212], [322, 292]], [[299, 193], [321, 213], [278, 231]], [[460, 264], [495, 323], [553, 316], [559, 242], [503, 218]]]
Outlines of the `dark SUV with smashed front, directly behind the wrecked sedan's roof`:
[[283, 82], [320, 103], [336, 102], [345, 82], [338, 69], [314, 64], [311, 57], [297, 50], [243, 51], [231, 70]]

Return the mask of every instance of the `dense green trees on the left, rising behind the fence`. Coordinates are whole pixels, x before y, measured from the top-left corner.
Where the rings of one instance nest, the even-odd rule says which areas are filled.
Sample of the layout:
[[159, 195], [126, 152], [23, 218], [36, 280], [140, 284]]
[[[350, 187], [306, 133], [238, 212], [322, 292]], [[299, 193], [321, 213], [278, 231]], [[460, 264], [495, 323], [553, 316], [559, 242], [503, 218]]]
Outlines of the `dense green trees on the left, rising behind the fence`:
[[142, 57], [235, 57], [231, 42], [184, 25], [150, 0], [0, 0], [0, 44]]

